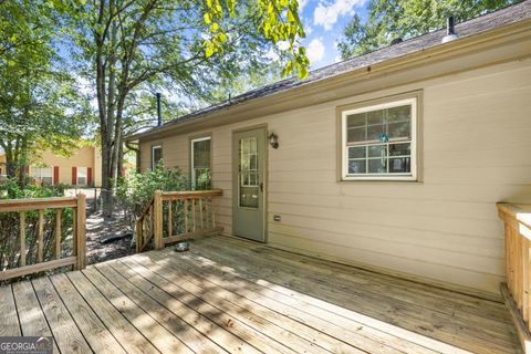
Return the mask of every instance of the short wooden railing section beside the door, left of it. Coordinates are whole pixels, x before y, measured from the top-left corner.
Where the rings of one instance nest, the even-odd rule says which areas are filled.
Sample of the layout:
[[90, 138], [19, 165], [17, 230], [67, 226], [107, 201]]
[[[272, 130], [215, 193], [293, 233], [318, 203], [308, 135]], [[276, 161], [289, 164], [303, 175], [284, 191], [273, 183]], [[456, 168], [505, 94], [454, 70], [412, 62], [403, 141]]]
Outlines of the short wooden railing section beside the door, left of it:
[[215, 197], [221, 190], [155, 191], [136, 220], [136, 251], [154, 249], [195, 236], [217, 233]]

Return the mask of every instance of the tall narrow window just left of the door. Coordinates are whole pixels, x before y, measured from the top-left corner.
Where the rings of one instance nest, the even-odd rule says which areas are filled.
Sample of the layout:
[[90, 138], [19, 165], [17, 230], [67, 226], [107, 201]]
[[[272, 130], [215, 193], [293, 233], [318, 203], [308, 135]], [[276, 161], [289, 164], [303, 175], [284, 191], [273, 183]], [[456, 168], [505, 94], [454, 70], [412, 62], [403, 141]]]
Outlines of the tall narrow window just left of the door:
[[209, 136], [191, 139], [190, 175], [192, 189], [206, 190], [211, 188], [210, 142]]

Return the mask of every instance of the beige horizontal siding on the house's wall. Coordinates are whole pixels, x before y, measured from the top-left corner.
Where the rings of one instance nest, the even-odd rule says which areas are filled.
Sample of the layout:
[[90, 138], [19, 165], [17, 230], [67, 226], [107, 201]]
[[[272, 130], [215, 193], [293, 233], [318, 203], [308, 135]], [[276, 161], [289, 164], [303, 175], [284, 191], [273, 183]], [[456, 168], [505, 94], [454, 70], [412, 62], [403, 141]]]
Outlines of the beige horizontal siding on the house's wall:
[[[421, 181], [337, 181], [336, 107], [417, 90]], [[269, 149], [271, 246], [496, 293], [496, 202], [531, 201], [530, 97], [527, 59], [211, 128], [218, 220], [230, 233], [232, 131], [267, 123], [280, 144]], [[167, 166], [187, 170], [187, 142], [163, 139]]]

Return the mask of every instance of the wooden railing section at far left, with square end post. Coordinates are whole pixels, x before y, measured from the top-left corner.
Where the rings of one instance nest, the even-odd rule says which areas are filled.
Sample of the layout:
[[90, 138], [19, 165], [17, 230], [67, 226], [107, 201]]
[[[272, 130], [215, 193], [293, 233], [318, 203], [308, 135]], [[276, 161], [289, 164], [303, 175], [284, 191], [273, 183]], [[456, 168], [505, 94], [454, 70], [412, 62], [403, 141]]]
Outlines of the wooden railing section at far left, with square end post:
[[[13, 242], [18, 249], [18, 261], [12, 262], [15, 264], [6, 269], [4, 264], [0, 264], [0, 281], [11, 278], [18, 278], [42, 271], [49, 271], [61, 267], [73, 266], [74, 269], [85, 268], [86, 259], [86, 199], [83, 194], [76, 197], [59, 197], [59, 198], [39, 198], [39, 199], [10, 199], [0, 200], [0, 214], [4, 212], [18, 212], [19, 225], [18, 232], [19, 238], [17, 242]], [[73, 218], [72, 227], [69, 230], [72, 231], [72, 238], [62, 237], [65, 230], [62, 230], [61, 216], [65, 208], [72, 208]], [[53, 259], [45, 259], [44, 254], [44, 236], [45, 236], [45, 220], [44, 212], [48, 210], [54, 210], [54, 220], [50, 226], [52, 228], [46, 241], [51, 241], [53, 237]], [[30, 249], [27, 247], [27, 229], [29, 223], [27, 222], [27, 214], [37, 212], [37, 221], [32, 221], [37, 229], [35, 247], [33, 248], [37, 254], [30, 254]], [[66, 242], [66, 239], [72, 240], [72, 252], [67, 257], [62, 257], [62, 247]], [[14, 241], [14, 240], [13, 240]], [[63, 252], [64, 253], [64, 252]], [[13, 252], [14, 254], [14, 252]], [[28, 258], [31, 256], [35, 261], [32, 264], [27, 264]]]

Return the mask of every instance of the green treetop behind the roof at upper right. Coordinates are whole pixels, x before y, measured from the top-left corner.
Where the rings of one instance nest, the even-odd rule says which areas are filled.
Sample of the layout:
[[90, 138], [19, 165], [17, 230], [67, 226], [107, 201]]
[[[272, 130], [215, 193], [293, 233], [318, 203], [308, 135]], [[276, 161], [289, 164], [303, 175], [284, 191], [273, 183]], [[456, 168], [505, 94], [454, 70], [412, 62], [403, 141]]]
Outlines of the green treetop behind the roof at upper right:
[[371, 0], [368, 19], [355, 14], [345, 27], [337, 48], [343, 59], [361, 55], [445, 27], [455, 15], [458, 22], [485, 14], [519, 0]]

